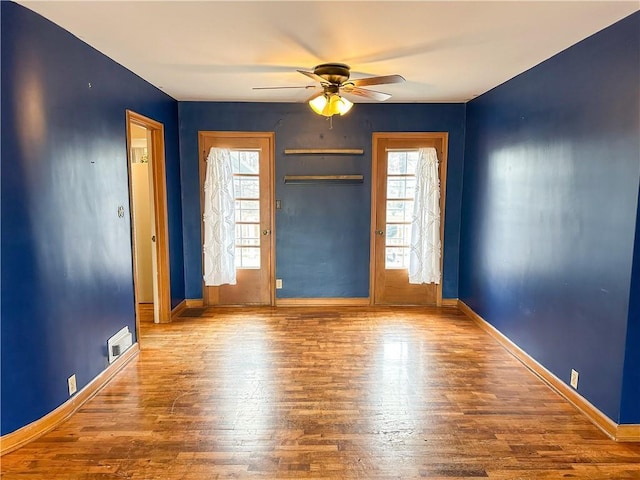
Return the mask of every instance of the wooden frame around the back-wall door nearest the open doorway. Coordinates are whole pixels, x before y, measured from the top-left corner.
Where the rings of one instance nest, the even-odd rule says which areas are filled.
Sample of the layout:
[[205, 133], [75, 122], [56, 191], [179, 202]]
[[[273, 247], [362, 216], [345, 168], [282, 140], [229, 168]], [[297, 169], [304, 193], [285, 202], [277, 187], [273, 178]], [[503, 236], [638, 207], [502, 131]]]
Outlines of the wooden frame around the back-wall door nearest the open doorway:
[[[269, 176], [271, 179], [269, 185], [269, 198], [266, 199], [271, 208], [269, 209], [269, 223], [271, 225], [271, 234], [269, 235], [269, 278], [270, 281], [270, 292], [269, 292], [269, 302], [271, 306], [276, 304], [276, 290], [275, 290], [275, 275], [276, 275], [276, 217], [275, 217], [275, 132], [224, 132], [224, 131], [207, 131], [200, 130], [198, 131], [198, 151], [200, 152], [200, 157], [198, 159], [198, 182], [200, 185], [200, 265], [202, 267], [202, 271], [204, 272], [204, 251], [202, 250], [202, 246], [204, 245], [204, 228], [202, 225], [202, 217], [204, 215], [204, 189], [202, 188], [202, 184], [204, 182], [204, 177], [206, 174], [205, 166], [207, 160], [207, 152], [205, 151], [203, 145], [206, 138], [264, 138], [269, 140]], [[262, 200], [262, 199], [260, 199]], [[204, 284], [204, 278], [202, 279], [202, 301], [204, 305], [208, 305], [208, 293], [206, 285]]]

